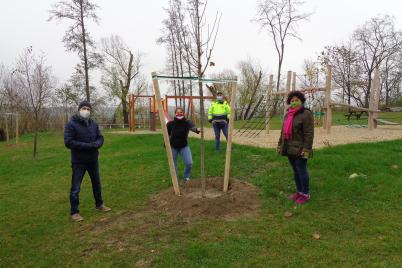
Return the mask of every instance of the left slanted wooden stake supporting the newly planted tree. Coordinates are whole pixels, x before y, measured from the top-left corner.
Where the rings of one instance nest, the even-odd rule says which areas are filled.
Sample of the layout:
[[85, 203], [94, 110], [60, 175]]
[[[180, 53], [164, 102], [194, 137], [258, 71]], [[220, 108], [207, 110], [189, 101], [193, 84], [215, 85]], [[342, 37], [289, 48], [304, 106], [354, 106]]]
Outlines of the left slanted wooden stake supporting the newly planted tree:
[[169, 162], [170, 176], [172, 178], [173, 189], [176, 195], [180, 195], [179, 182], [177, 181], [176, 169], [173, 162], [172, 147], [170, 146], [169, 135], [166, 127], [165, 116], [163, 114], [163, 106], [161, 101], [161, 93], [159, 90], [158, 78], [154, 78], [156, 72], [152, 72], [152, 82], [154, 86], [155, 98], [158, 104], [159, 119], [161, 122], [163, 140], [165, 142], [166, 154]]

